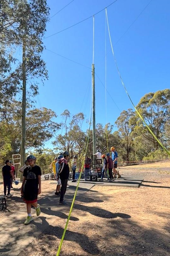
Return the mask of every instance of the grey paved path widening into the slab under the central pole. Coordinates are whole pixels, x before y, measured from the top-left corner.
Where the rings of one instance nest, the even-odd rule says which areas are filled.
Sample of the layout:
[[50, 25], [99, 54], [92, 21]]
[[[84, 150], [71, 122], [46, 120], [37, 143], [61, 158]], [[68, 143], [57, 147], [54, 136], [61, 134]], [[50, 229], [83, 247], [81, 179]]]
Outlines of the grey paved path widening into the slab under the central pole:
[[[116, 179], [113, 183], [106, 181], [94, 182], [80, 180], [76, 199], [79, 200], [79, 198], [89, 189], [92, 193], [97, 192], [95, 190], [95, 185], [139, 187], [142, 180], [142, 177], [135, 177], [132, 175], [129, 175], [128, 177], [122, 175], [122, 178]], [[32, 209], [34, 221], [27, 226], [23, 224], [27, 216], [26, 207], [11, 214], [8, 219], [5, 219], [5, 222], [1, 219], [0, 255], [17, 256], [26, 248], [26, 246], [39, 236], [43, 230], [47, 229], [49, 225], [53, 225], [54, 220], [59, 218], [67, 219], [76, 186], [77, 182], [71, 182], [71, 180], [69, 180], [65, 195], [65, 200], [68, 202], [67, 205], [58, 204], [59, 197], [57, 198], [54, 193], [38, 200], [38, 203], [41, 205], [41, 215], [37, 217], [36, 211]], [[76, 203], [74, 208], [77, 209], [77, 207]], [[70, 220], [76, 221], [78, 218], [72, 215]]]

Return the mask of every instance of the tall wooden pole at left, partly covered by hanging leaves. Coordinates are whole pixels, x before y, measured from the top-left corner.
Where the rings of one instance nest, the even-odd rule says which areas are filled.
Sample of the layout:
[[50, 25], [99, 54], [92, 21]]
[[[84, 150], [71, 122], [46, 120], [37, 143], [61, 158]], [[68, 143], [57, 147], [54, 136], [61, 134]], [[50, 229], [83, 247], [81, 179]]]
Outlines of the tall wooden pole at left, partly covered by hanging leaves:
[[[23, 39], [22, 45], [22, 131], [21, 131], [21, 166], [26, 159], [26, 39]], [[21, 176], [20, 180], [23, 180]]]

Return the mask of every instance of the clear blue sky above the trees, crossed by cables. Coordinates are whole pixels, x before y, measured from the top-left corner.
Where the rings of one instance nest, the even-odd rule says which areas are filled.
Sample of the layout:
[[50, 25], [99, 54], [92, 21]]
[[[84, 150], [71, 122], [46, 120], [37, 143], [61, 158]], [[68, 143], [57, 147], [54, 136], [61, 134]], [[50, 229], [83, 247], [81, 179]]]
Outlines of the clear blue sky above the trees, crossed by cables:
[[[74, 0], [70, 3], [70, 0], [48, 0], [50, 17], [70, 4], [51, 18], [45, 37], [88, 18], [113, 1]], [[118, 0], [107, 8], [117, 64], [135, 105], [144, 94], [169, 88], [170, 81], [170, 1], [152, 0], [147, 6], [149, 2], [150, 0]], [[105, 10], [95, 15], [94, 23], [96, 123], [105, 125]], [[133, 106], [121, 84], [111, 52], [108, 31], [106, 41], [106, 87], [112, 97], [107, 93], [107, 122], [114, 124], [123, 110]], [[47, 63], [49, 80], [45, 81], [44, 87], [40, 85], [39, 96], [36, 98], [37, 107], [54, 110], [58, 115], [56, 122], [61, 122], [60, 114], [65, 109], [71, 114], [83, 112], [88, 119], [91, 104], [93, 18], [50, 36], [43, 42], [48, 50], [86, 67], [45, 50], [42, 58]], [[88, 125], [84, 124], [83, 128], [86, 130]], [[50, 143], [45, 147], [51, 147]]]

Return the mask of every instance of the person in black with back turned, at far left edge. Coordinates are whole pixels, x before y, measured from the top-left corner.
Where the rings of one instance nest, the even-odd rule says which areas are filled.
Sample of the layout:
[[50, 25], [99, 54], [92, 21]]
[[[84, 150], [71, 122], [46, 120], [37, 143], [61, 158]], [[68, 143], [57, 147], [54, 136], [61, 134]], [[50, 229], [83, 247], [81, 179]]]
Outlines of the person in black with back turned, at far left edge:
[[11, 191], [11, 177], [15, 180], [13, 172], [11, 170], [10, 161], [6, 160], [5, 165], [2, 167], [2, 176], [3, 176], [3, 183], [4, 183], [4, 196], [6, 196], [6, 187], [8, 187], [7, 196], [12, 196], [10, 194]]

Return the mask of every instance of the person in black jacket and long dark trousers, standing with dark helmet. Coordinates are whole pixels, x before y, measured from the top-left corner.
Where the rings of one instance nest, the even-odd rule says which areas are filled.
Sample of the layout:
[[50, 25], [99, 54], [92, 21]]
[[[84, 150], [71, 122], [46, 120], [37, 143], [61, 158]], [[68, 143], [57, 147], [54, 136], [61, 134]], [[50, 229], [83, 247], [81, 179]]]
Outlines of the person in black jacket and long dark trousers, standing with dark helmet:
[[60, 169], [59, 169], [59, 172], [58, 172], [57, 180], [59, 178], [61, 179], [61, 190], [60, 190], [60, 202], [59, 202], [59, 204], [67, 204], [64, 200], [64, 195], [65, 195], [65, 192], [66, 192], [66, 189], [67, 189], [67, 182], [69, 180], [69, 173], [70, 173], [68, 160], [69, 160], [69, 152], [64, 151], [63, 158], [61, 158], [58, 161], [59, 164], [60, 164]]

